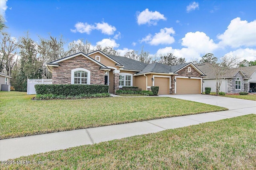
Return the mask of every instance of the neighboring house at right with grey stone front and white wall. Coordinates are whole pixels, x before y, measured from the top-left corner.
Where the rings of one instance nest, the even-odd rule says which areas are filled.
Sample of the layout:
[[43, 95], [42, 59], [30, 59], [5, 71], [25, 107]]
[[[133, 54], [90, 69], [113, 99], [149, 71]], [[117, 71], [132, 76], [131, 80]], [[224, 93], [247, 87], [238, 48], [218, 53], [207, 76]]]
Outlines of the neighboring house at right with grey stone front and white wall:
[[[207, 75], [203, 78], [203, 92], [205, 87], [210, 87], [211, 92], [216, 92], [216, 75], [212, 64], [203, 63], [196, 66]], [[220, 92], [248, 92], [254, 86], [256, 86], [256, 66], [230, 68], [223, 76]]]

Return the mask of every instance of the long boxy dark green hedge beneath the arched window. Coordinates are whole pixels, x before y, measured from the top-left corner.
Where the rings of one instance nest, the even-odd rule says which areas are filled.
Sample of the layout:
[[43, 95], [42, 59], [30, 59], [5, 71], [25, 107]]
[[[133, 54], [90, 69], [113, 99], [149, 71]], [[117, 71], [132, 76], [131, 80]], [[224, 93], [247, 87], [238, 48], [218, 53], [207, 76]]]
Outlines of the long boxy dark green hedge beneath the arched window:
[[36, 94], [77, 96], [80, 94], [108, 93], [108, 85], [88, 84], [36, 84]]

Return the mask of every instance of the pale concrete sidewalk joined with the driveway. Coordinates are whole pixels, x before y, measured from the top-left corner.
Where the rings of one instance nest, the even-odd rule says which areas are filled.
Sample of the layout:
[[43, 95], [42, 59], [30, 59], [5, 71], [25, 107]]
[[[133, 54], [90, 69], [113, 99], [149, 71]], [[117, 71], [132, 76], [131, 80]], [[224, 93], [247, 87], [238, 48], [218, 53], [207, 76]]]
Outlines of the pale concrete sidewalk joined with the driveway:
[[[240, 115], [256, 113], [256, 101], [224, 98], [207, 95], [161, 95], [167, 97], [182, 98], [196, 102], [214, 104], [227, 107], [228, 111], [213, 113], [202, 113], [197, 115], [187, 115], [180, 117], [170, 117], [150, 121], [126, 123], [121, 125], [111, 125], [58, 133], [48, 133], [28, 137], [19, 137], [0, 140], [0, 160], [17, 158], [51, 150], [66, 149], [80, 145], [88, 145], [121, 139], [134, 135], [155, 133], [166, 129], [174, 129], [189, 125], [196, 125], [209, 121], [217, 121]], [[232, 100], [230, 100], [232, 99]], [[232, 104], [232, 102], [234, 102]]]

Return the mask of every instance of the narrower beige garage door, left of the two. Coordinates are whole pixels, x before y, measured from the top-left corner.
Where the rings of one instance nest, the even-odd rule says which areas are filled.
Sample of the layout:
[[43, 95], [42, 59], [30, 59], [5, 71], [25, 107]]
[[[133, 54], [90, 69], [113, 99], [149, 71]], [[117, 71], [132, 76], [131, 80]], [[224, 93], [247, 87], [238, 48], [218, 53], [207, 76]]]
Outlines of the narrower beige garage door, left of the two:
[[154, 77], [154, 86], [159, 86], [158, 94], [169, 94], [170, 79], [165, 77]]

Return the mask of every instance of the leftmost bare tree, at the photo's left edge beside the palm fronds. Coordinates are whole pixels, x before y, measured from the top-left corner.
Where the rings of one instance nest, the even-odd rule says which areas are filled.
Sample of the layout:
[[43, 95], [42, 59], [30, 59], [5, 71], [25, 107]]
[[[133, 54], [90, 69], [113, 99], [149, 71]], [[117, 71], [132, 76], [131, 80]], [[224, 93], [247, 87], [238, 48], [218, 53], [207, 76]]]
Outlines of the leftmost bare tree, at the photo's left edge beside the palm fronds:
[[11, 76], [12, 68], [18, 60], [19, 41], [6, 32], [2, 33], [1, 39], [0, 72], [3, 72], [5, 68], [8, 76]]

